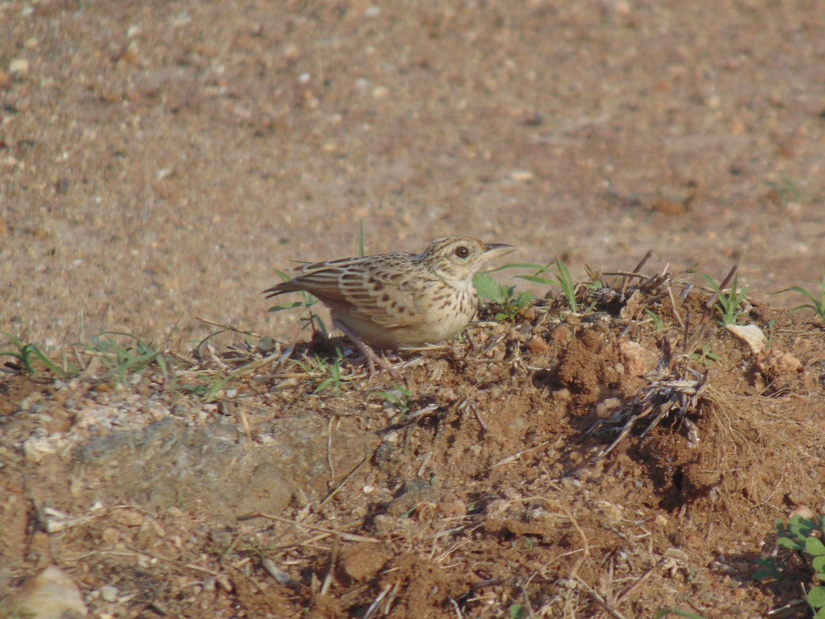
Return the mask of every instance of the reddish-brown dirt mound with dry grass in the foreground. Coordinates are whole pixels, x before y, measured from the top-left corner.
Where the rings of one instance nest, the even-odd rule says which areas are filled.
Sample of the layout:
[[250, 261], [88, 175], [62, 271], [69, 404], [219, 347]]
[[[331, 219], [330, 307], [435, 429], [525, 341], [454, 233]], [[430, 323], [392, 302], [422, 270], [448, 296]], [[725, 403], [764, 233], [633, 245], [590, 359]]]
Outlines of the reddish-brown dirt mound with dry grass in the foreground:
[[81, 378], [6, 376], [3, 585], [54, 561], [96, 614], [216, 617], [758, 617], [798, 597], [751, 574], [774, 517], [825, 504], [822, 322], [743, 305], [755, 352], [672, 281], [578, 301], [404, 353], [398, 383], [323, 339], [152, 357], [114, 388], [91, 352]]

